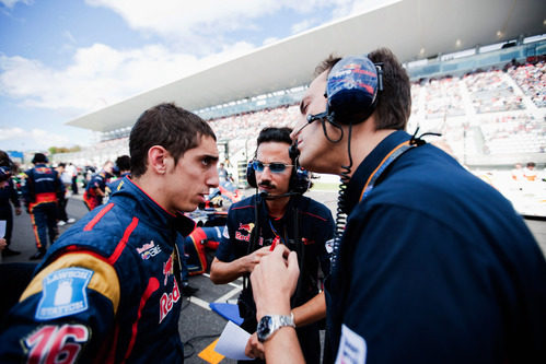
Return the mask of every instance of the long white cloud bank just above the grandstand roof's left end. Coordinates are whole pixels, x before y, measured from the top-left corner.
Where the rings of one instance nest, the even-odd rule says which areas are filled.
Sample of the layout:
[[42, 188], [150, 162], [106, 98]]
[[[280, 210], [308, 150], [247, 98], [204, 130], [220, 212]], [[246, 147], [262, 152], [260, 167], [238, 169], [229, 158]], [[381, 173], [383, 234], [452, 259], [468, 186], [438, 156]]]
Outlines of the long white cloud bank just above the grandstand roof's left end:
[[0, 93], [25, 106], [88, 113], [164, 85], [253, 49], [237, 43], [198, 58], [162, 45], [116, 50], [103, 44], [79, 48], [62, 70], [0, 54]]

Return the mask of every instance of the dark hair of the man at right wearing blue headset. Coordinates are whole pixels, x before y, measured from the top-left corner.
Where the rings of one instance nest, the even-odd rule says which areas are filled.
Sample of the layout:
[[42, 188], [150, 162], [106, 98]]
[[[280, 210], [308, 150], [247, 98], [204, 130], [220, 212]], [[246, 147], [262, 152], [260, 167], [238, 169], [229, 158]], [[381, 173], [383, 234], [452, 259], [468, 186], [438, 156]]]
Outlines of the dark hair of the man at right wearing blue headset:
[[[411, 113], [411, 86], [406, 70], [387, 48], [368, 55], [374, 63], [383, 63], [383, 91], [377, 95], [375, 129], [406, 129]], [[329, 71], [341, 58], [329, 55], [315, 68], [315, 77]]]

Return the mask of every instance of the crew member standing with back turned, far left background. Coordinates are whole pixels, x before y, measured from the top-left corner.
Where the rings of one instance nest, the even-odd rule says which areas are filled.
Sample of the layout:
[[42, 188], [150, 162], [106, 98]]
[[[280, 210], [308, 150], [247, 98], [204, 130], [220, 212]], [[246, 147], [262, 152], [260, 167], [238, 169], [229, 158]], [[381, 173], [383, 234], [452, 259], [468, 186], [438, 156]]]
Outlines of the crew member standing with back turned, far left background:
[[25, 172], [23, 198], [26, 211], [31, 214], [32, 227], [38, 249], [31, 260], [42, 259], [47, 251], [47, 237], [54, 244], [59, 231], [57, 228], [57, 203], [65, 195], [65, 185], [55, 168], [46, 165], [47, 156], [34, 154], [34, 167]]

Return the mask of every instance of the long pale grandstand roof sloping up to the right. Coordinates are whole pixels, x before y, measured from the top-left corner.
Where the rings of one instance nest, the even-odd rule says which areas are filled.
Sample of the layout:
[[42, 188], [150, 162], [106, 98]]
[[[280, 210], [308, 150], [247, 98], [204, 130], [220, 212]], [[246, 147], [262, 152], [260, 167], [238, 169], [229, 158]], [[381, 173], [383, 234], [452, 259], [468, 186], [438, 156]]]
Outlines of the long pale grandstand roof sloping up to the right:
[[391, 48], [403, 61], [545, 33], [544, 0], [388, 0], [349, 16], [79, 117], [68, 125], [111, 131], [135, 124], [147, 108], [175, 102], [190, 110], [311, 81], [330, 52]]

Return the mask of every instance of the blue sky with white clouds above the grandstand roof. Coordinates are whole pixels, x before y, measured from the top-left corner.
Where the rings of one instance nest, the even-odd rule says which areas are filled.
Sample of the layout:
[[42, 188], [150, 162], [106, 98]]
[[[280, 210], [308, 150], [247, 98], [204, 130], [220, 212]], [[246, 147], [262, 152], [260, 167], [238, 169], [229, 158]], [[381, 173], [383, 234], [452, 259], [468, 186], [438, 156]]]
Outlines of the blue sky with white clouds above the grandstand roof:
[[0, 149], [92, 144], [65, 124], [377, 2], [0, 0]]

